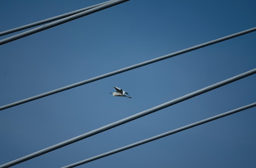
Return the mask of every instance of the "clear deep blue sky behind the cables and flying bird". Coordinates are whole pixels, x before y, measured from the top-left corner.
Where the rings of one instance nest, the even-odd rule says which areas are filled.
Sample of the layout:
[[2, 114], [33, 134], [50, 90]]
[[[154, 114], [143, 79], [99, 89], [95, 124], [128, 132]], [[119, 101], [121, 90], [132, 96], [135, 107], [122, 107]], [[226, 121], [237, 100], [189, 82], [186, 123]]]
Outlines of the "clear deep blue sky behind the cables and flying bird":
[[[2, 0], [0, 31], [101, 2]], [[0, 106], [253, 28], [255, 9], [255, 0], [130, 0], [4, 44]], [[0, 164], [252, 70], [255, 54], [256, 32], [2, 110]], [[255, 83], [249, 76], [13, 168], [66, 166], [254, 103]], [[108, 94], [113, 86], [132, 99]], [[80, 167], [256, 167], [255, 119], [256, 107]]]

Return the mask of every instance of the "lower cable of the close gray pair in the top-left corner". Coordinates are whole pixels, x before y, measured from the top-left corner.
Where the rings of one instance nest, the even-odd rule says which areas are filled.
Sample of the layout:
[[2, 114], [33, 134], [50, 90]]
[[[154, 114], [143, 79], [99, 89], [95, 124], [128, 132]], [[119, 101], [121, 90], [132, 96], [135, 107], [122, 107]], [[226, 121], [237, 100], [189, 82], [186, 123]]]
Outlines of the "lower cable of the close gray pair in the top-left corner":
[[94, 7], [94, 8], [92, 8], [92, 9], [88, 9], [88, 10], [86, 10], [86, 11], [83, 11], [83, 12], [80, 12], [80, 13], [76, 13], [76, 14], [74, 14], [74, 15], [65, 17], [65, 18], [63, 18], [63, 19], [56, 20], [56, 21], [54, 21], [54, 22], [52, 22], [52, 23], [48, 23], [48, 24], [45, 24], [45, 25], [43, 25], [43, 26], [39, 26], [39, 27], [37, 27], [37, 28], [33, 28], [33, 29], [29, 30], [29, 31], [25, 31], [25, 32], [20, 33], [20, 34], [18, 34], [18, 35], [14, 35], [14, 36], [11, 36], [11, 37], [7, 37], [7, 38], [5, 38], [5, 39], [0, 40], [0, 45], [9, 43], [9, 42], [11, 42], [11, 41], [14, 41], [14, 40], [16, 40], [16, 39], [20, 39], [20, 38], [22, 38], [22, 37], [26, 37], [26, 36], [28, 36], [28, 35], [32, 35], [32, 34], [34, 34], [34, 33], [38, 33], [38, 32], [40, 32], [40, 31], [46, 30], [46, 29], [48, 29], [48, 28], [52, 28], [52, 27], [54, 27], [54, 26], [58, 26], [58, 25], [60, 25], [60, 24], [66, 23], [66, 22], [70, 22], [70, 21], [72, 21], [72, 20], [78, 19], [78, 18], [83, 17], [83, 16], [86, 16], [86, 15], [90, 15], [90, 14], [95, 13], [95, 12], [97, 12], [97, 11], [101, 11], [101, 10], [103, 10], [103, 9], [106, 9], [106, 8], [109, 8], [109, 7], [112, 7], [112, 6], [115, 6], [115, 5], [117, 5], [117, 4], [120, 4], [120, 3], [123, 3], [123, 2], [126, 2], [126, 1], [128, 1], [128, 0], [114, 0], [114, 1], [108, 2], [108, 3], [106, 3], [106, 4], [100, 5], [100, 6], [98, 6], [98, 7]]

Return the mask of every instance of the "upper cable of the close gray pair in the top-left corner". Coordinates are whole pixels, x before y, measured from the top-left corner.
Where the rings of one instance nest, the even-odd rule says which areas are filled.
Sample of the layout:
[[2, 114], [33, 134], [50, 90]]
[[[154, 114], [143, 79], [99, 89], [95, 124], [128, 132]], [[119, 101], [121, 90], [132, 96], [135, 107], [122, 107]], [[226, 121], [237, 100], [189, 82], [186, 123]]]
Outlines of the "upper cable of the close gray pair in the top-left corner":
[[45, 23], [49, 23], [49, 22], [52, 22], [54, 20], [59, 20], [59, 19], [62, 19], [64, 17], [68, 17], [68, 16], [71, 16], [71, 15], [74, 15], [76, 13], [80, 13], [80, 12], [83, 12], [83, 11], [86, 11], [88, 9], [92, 9], [94, 7], [98, 7], [100, 5], [103, 5], [103, 4], [106, 4], [108, 2], [112, 2], [114, 0], [110, 0], [110, 1], [107, 1], [107, 2], [103, 2], [103, 3], [100, 3], [100, 4], [95, 4], [95, 5], [92, 5], [90, 7], [86, 7], [86, 8], [83, 8], [83, 9], [79, 9], [79, 10], [76, 10], [76, 11], [72, 11], [72, 12], [69, 12], [69, 13], [65, 13], [65, 14], [62, 14], [62, 15], [58, 15], [58, 16], [55, 16], [55, 17], [51, 17], [51, 18], [48, 18], [48, 19], [45, 19], [45, 20], [41, 20], [41, 21], [38, 21], [38, 22], [34, 22], [34, 23], [31, 23], [31, 24], [26, 24], [24, 26], [20, 26], [20, 27], [16, 27], [16, 28], [12, 28], [10, 30], [7, 30], [7, 31], [3, 31], [3, 32], [0, 32], [0, 36], [2, 35], [8, 35], [10, 33], [14, 33], [14, 32], [17, 32], [17, 31], [22, 31], [24, 29], [27, 29], [27, 28], [31, 28], [31, 27], [34, 27], [34, 26], [38, 26], [38, 25], [41, 25], [41, 24], [45, 24]]

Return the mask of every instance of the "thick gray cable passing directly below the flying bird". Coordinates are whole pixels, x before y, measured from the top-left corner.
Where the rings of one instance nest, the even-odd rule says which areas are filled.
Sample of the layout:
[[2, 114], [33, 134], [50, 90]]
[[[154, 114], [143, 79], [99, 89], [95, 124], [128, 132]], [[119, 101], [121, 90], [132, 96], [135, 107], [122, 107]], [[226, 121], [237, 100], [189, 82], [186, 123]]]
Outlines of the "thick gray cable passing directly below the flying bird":
[[42, 150], [40, 150], [40, 151], [31, 153], [31, 154], [29, 154], [29, 155], [27, 155], [27, 156], [20, 157], [19, 159], [16, 159], [16, 160], [13, 160], [13, 161], [10, 161], [10, 162], [8, 162], [8, 163], [6, 163], [6, 164], [1, 165], [0, 168], [7, 168], [7, 167], [10, 167], [10, 166], [19, 164], [19, 163], [21, 163], [21, 162], [23, 162], [23, 161], [27, 161], [27, 160], [29, 160], [29, 159], [32, 159], [32, 158], [34, 158], [34, 157], [43, 155], [43, 154], [45, 154], [45, 153], [54, 151], [54, 150], [56, 150], [56, 149], [58, 149], [58, 148], [61, 148], [61, 147], [63, 147], [63, 146], [67, 146], [67, 145], [72, 144], [72, 143], [74, 143], [74, 142], [83, 140], [83, 139], [85, 139], [85, 138], [87, 138], [87, 137], [90, 137], [90, 136], [92, 136], [92, 135], [96, 135], [96, 134], [98, 134], [98, 133], [101, 133], [101, 132], [106, 131], [106, 130], [109, 130], [109, 129], [112, 129], [112, 128], [117, 127], [117, 126], [119, 126], [119, 125], [121, 125], [121, 124], [125, 124], [126, 122], [130, 122], [130, 121], [132, 121], [132, 120], [135, 120], [135, 119], [137, 119], [137, 118], [141, 118], [141, 117], [146, 116], [146, 115], [148, 115], [148, 114], [150, 114], [150, 113], [153, 113], [153, 112], [155, 112], [155, 111], [164, 109], [164, 108], [169, 107], [169, 106], [171, 106], [171, 105], [175, 105], [175, 104], [180, 103], [180, 102], [182, 102], [182, 101], [184, 101], [184, 100], [187, 100], [187, 99], [189, 99], [189, 98], [193, 98], [193, 97], [198, 96], [198, 95], [200, 95], [200, 94], [203, 94], [203, 93], [205, 93], [205, 92], [209, 92], [209, 91], [211, 91], [211, 90], [213, 90], [213, 89], [216, 89], [216, 88], [221, 87], [221, 86], [223, 86], [223, 85], [227, 85], [228, 83], [237, 81], [237, 80], [239, 80], [239, 79], [243, 79], [243, 78], [245, 78], [245, 77], [247, 77], [247, 76], [250, 76], [250, 75], [252, 75], [252, 74], [255, 74], [255, 73], [256, 73], [256, 68], [253, 69], [253, 70], [249, 70], [249, 71], [247, 71], [247, 72], [244, 72], [244, 73], [242, 73], [242, 74], [236, 75], [236, 76], [234, 76], [234, 77], [231, 77], [231, 78], [229, 78], [229, 79], [226, 79], [226, 80], [224, 80], [224, 81], [221, 81], [221, 82], [215, 83], [215, 84], [213, 84], [213, 85], [204, 87], [204, 88], [202, 88], [202, 89], [200, 89], [200, 90], [197, 90], [197, 91], [195, 91], [195, 92], [192, 92], [192, 93], [190, 93], [190, 94], [186, 94], [186, 95], [181, 96], [181, 97], [179, 97], [179, 98], [176, 98], [176, 99], [174, 99], [174, 100], [168, 101], [168, 102], [163, 103], [163, 104], [161, 104], [161, 105], [155, 106], [155, 107], [153, 107], [153, 108], [151, 108], [151, 109], [147, 109], [147, 110], [145, 110], [145, 111], [141, 111], [140, 113], [137, 113], [137, 114], [134, 114], [134, 115], [129, 116], [129, 117], [127, 117], [127, 118], [124, 118], [124, 119], [121, 119], [121, 120], [119, 120], [119, 121], [113, 122], [113, 123], [108, 124], [108, 125], [106, 125], [106, 126], [100, 127], [100, 128], [98, 128], [98, 129], [94, 129], [94, 130], [92, 130], [92, 131], [90, 131], [90, 132], [88, 132], [88, 133], [84, 133], [84, 134], [82, 134], [82, 135], [73, 137], [73, 138], [71, 138], [71, 139], [69, 139], [69, 140], [60, 142], [60, 143], [55, 144], [55, 145], [53, 145], [53, 146], [50, 146], [50, 147], [48, 147], [48, 148], [44, 148], [44, 149], [42, 149]]

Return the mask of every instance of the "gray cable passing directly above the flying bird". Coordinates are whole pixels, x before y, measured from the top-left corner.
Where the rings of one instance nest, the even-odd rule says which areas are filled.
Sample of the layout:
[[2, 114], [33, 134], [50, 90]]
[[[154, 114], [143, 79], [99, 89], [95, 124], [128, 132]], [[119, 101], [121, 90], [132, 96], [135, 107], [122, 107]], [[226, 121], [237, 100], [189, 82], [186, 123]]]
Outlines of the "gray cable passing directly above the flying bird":
[[228, 36], [225, 36], [225, 37], [222, 37], [222, 38], [219, 38], [219, 39], [215, 39], [215, 40], [212, 40], [212, 41], [208, 41], [206, 43], [203, 43], [203, 44], [199, 44], [197, 46], [193, 46], [193, 47], [190, 47], [190, 48], [186, 48], [184, 50], [180, 50], [180, 51], [177, 51], [177, 52], [173, 52], [171, 54], [168, 54], [168, 55], [164, 55], [162, 57], [157, 57], [155, 59], [151, 59], [151, 60], [148, 60], [148, 61], [145, 61], [145, 62], [142, 62], [142, 63], [138, 63], [138, 64], [135, 64], [135, 65], [131, 65], [131, 66], [128, 66], [126, 68], [122, 68], [122, 69], [119, 69], [119, 70], [115, 70], [115, 71], [112, 71], [112, 72], [109, 72], [107, 74], [103, 74], [103, 75], [100, 75], [100, 76], [96, 76], [94, 78], [91, 78], [91, 79], [87, 79], [85, 81], [81, 81], [81, 82], [78, 82], [78, 83], [74, 83], [72, 85], [67, 85], [65, 87], [61, 87], [61, 88], [58, 88], [58, 89], [55, 89], [55, 90], [52, 90], [52, 91], [49, 91], [49, 92], [45, 92], [43, 94], [38, 94], [36, 96], [32, 96], [32, 97], [29, 97], [29, 98], [25, 98], [23, 100], [19, 100], [17, 102], [14, 102], [14, 103], [10, 103], [8, 105], [3, 105], [0, 107], [0, 110], [3, 110], [3, 109], [7, 109], [7, 108], [10, 108], [10, 107], [13, 107], [13, 106], [16, 106], [16, 105], [20, 105], [20, 104], [23, 104], [23, 103], [27, 103], [29, 101], [32, 101], [32, 100], [36, 100], [36, 99], [39, 99], [39, 98], [43, 98], [45, 96], [49, 96], [49, 95], [52, 95], [52, 94], [56, 94], [58, 92], [62, 92], [62, 91], [65, 91], [65, 90], [68, 90], [68, 89], [72, 89], [74, 87], [78, 87], [78, 86], [81, 86], [81, 85], [84, 85], [84, 84], [87, 84], [87, 83], [91, 83], [91, 82], [94, 82], [94, 81], [98, 81], [100, 79], [104, 79], [106, 77], [109, 77], [109, 76], [113, 76], [113, 75], [116, 75], [116, 74], [120, 74], [122, 72], [126, 72], [128, 70], [133, 70], [135, 68], [139, 68], [141, 66], [145, 66], [145, 65], [148, 65], [150, 63], [155, 63], [157, 61], [161, 61], [161, 60], [164, 60], [164, 59], [168, 59], [168, 58], [171, 58], [171, 57], [174, 57], [174, 56], [177, 56], [177, 55], [181, 55], [181, 54], [184, 54], [186, 52], [189, 52], [189, 51], [193, 51], [193, 50], [196, 50], [196, 49], [199, 49], [199, 48], [202, 48], [202, 47], [205, 47], [205, 46], [209, 46], [209, 45], [212, 45], [212, 44], [216, 44], [218, 42], [221, 42], [221, 41], [225, 41], [227, 39], [231, 39], [231, 38], [234, 38], [234, 37], [238, 37], [240, 35], [244, 35], [244, 34], [247, 34], [247, 33], [251, 33], [251, 32], [254, 32], [256, 31], [256, 27], [254, 28], [250, 28], [248, 30], [245, 30], [245, 31], [241, 31], [241, 32], [238, 32], [238, 33], [235, 33], [235, 34], [232, 34], [232, 35], [228, 35]]

